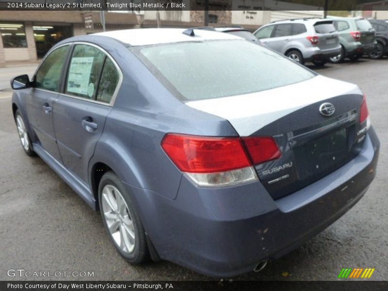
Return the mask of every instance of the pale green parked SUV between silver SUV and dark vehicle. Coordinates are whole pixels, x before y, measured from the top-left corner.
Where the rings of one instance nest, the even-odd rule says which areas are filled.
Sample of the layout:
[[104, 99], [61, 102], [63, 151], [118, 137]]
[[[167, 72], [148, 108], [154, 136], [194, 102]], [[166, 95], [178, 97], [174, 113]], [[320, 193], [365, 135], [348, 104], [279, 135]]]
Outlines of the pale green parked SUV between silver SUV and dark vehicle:
[[339, 33], [341, 51], [330, 58], [332, 63], [340, 63], [345, 58], [356, 61], [363, 54], [369, 54], [376, 41], [375, 31], [368, 20], [364, 18], [330, 17]]

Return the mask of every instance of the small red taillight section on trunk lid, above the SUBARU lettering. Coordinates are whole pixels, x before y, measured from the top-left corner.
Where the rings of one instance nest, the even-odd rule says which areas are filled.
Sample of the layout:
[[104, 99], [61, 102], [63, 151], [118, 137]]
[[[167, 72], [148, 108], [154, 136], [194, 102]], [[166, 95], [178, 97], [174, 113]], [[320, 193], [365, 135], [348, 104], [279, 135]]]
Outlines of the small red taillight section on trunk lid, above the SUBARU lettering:
[[281, 152], [272, 137], [242, 137], [254, 164], [280, 158]]

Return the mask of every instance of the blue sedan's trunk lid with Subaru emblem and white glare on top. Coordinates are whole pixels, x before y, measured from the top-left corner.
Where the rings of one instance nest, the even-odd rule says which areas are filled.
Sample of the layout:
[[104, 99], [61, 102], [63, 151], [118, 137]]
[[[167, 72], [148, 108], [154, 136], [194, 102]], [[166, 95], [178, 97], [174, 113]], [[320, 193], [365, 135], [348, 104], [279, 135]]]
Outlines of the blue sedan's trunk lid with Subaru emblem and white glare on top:
[[[311, 88], [319, 89], [312, 93]], [[274, 199], [293, 193], [352, 160], [365, 137], [362, 128], [366, 123], [360, 125], [358, 121], [362, 95], [353, 84], [317, 76], [289, 86], [222, 99], [186, 104], [226, 118], [241, 136], [275, 139], [281, 157], [255, 165], [260, 181]], [[335, 107], [330, 116], [320, 113], [325, 103]]]

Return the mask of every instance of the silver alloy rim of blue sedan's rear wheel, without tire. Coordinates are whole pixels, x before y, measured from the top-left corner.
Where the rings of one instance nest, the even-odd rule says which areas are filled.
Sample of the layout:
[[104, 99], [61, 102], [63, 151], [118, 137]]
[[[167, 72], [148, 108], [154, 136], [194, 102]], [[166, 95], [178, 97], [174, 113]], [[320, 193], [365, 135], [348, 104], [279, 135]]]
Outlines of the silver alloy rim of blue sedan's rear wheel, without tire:
[[120, 191], [113, 185], [102, 189], [102, 211], [113, 241], [125, 253], [135, 249], [135, 228], [132, 215]]

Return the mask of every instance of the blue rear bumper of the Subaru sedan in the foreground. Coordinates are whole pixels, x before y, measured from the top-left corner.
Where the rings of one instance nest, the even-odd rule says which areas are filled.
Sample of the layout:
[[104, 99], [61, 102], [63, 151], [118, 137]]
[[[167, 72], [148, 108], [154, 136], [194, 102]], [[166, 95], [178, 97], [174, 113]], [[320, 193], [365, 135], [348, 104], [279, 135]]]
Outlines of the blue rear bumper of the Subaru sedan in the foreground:
[[260, 182], [204, 189], [185, 177], [175, 200], [132, 192], [162, 259], [214, 277], [240, 275], [284, 256], [355, 205], [375, 177], [379, 146], [369, 129], [355, 159], [277, 200]]

